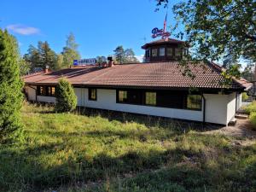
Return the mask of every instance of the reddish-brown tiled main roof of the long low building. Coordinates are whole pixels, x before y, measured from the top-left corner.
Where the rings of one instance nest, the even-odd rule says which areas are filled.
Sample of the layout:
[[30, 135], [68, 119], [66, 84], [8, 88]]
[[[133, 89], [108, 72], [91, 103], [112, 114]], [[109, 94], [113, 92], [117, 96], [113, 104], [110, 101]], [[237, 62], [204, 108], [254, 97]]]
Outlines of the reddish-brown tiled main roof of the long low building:
[[224, 84], [221, 67], [213, 63], [189, 64], [195, 79], [183, 75], [184, 67], [176, 62], [155, 62], [115, 65], [113, 67], [73, 67], [52, 73], [25, 76], [26, 84], [56, 84], [66, 77], [75, 85], [104, 87], [154, 87], [154, 88], [232, 88], [247, 89], [246, 80], [233, 79], [229, 86]]

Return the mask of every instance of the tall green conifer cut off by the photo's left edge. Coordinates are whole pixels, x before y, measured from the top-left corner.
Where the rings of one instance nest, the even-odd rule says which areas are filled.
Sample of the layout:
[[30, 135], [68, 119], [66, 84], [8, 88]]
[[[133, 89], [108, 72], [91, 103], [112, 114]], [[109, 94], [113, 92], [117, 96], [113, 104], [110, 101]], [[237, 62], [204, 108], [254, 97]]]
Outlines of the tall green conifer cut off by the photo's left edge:
[[22, 81], [15, 38], [0, 29], [0, 137], [8, 137], [21, 127]]

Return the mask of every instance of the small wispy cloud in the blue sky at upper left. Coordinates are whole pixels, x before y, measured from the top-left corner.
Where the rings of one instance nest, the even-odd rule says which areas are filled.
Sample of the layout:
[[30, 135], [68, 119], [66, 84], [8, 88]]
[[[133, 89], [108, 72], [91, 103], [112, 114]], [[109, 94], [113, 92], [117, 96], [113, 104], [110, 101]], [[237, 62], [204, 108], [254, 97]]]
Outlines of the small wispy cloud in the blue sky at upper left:
[[36, 27], [23, 26], [20, 24], [9, 25], [6, 26], [6, 28], [10, 31], [19, 33], [20, 35], [35, 35], [40, 33], [40, 30]]

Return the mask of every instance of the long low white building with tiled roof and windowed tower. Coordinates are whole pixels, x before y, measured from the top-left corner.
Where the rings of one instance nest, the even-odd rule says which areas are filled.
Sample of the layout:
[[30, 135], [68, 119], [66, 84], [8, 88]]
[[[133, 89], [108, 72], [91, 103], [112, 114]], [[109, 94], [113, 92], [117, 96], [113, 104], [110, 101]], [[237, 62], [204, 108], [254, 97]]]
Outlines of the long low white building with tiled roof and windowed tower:
[[182, 41], [154, 41], [143, 49], [145, 63], [113, 65], [109, 61], [107, 66], [27, 75], [28, 100], [55, 102], [55, 85], [66, 77], [73, 84], [78, 106], [222, 125], [234, 119], [241, 107], [241, 92], [251, 87], [245, 79], [232, 79], [227, 85], [221, 75], [224, 68], [212, 62], [181, 65], [178, 61], [188, 55]]

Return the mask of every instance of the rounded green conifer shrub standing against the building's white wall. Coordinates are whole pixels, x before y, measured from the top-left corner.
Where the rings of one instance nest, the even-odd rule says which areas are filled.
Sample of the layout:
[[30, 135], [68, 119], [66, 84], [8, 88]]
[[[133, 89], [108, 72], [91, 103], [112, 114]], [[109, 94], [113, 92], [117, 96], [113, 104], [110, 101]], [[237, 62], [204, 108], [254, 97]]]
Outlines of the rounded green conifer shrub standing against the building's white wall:
[[67, 79], [60, 79], [56, 87], [56, 112], [70, 112], [77, 106], [77, 96]]

